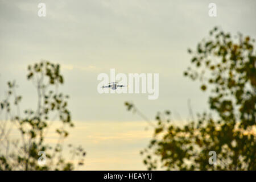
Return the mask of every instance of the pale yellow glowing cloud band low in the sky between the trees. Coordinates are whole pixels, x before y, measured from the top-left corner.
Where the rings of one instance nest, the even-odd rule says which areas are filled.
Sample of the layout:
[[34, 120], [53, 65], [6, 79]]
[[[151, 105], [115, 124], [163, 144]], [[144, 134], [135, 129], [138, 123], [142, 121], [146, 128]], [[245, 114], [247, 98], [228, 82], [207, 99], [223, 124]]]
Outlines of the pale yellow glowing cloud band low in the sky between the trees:
[[[145, 170], [139, 154], [152, 137], [152, 130], [144, 121], [75, 121], [75, 127], [66, 128], [69, 137], [64, 140], [63, 155], [71, 161], [69, 143], [81, 145], [86, 151], [85, 165], [80, 170]], [[45, 142], [55, 145], [58, 142], [56, 128], [61, 122], [55, 121], [47, 132]], [[19, 139], [17, 130], [11, 137]], [[77, 162], [77, 159], [74, 160]]]

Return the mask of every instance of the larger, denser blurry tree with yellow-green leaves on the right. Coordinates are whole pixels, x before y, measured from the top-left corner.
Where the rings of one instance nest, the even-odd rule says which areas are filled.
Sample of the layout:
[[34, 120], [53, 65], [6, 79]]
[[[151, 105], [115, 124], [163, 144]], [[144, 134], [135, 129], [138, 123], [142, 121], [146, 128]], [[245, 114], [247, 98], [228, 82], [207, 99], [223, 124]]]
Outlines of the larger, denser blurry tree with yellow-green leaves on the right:
[[[196, 51], [188, 49], [193, 68], [184, 76], [201, 81], [203, 92], [210, 89], [212, 112], [197, 114], [182, 127], [171, 122], [170, 111], [157, 114], [154, 136], [141, 151], [150, 170], [159, 164], [167, 170], [256, 170], [254, 40], [242, 34], [233, 39], [218, 27], [209, 34]], [[210, 151], [217, 164], [209, 163]]]

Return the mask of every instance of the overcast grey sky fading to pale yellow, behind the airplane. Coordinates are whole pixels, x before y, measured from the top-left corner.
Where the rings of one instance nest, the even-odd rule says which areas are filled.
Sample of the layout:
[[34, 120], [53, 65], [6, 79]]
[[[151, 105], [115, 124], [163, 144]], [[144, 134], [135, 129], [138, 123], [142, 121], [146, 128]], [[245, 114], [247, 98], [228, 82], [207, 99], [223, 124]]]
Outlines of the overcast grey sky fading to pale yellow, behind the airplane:
[[[208, 15], [216, 3], [217, 16]], [[46, 4], [46, 17], [38, 4]], [[61, 65], [75, 129], [88, 154], [85, 169], [146, 169], [139, 151], [152, 131], [126, 110], [133, 102], [148, 118], [171, 110], [176, 122], [209, 111], [208, 93], [183, 76], [196, 48], [214, 26], [256, 38], [256, 1], [13, 1], [0, 0], [0, 99], [6, 82], [16, 80], [22, 108], [36, 106], [36, 89], [26, 80], [28, 64], [49, 60]], [[97, 76], [159, 73], [159, 98], [148, 94], [99, 94]]]

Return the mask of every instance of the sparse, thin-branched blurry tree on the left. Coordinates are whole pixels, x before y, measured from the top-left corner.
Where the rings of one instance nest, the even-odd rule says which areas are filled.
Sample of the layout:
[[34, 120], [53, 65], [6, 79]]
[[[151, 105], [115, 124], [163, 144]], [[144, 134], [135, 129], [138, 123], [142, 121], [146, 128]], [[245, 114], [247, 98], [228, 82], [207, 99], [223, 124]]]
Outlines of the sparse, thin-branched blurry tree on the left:
[[[71, 113], [68, 110], [68, 97], [59, 92], [64, 83], [60, 65], [48, 61], [28, 66], [27, 79], [35, 85], [38, 101], [35, 110], [20, 113], [22, 96], [16, 94], [15, 81], [8, 82], [6, 98], [0, 102], [0, 170], [71, 170], [74, 162], [66, 162], [61, 154], [63, 140], [68, 137], [67, 127], [73, 127]], [[49, 119], [52, 117], [52, 119]], [[4, 119], [2, 119], [4, 118]], [[61, 127], [56, 129], [59, 140], [55, 146], [45, 142], [52, 122], [58, 119]], [[19, 139], [10, 133], [15, 129]], [[78, 159], [77, 165], [83, 165], [85, 152], [81, 146], [69, 144], [71, 152]], [[45, 156], [43, 156], [43, 155]], [[41, 156], [42, 155], [42, 156]], [[46, 164], [40, 164], [41, 160]]]

